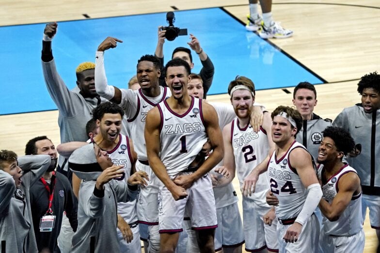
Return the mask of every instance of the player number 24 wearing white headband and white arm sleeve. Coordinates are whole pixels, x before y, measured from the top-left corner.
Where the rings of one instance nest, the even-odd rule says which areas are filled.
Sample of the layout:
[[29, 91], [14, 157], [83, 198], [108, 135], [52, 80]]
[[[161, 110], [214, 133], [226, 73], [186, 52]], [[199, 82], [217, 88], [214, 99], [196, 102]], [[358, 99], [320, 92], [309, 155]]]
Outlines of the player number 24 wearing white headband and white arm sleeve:
[[301, 114], [278, 106], [271, 114], [275, 149], [244, 179], [244, 196], [255, 191], [258, 176], [268, 170], [270, 192], [278, 198], [277, 238], [280, 252], [317, 252], [319, 223], [314, 215], [322, 191], [310, 153], [295, 138]]

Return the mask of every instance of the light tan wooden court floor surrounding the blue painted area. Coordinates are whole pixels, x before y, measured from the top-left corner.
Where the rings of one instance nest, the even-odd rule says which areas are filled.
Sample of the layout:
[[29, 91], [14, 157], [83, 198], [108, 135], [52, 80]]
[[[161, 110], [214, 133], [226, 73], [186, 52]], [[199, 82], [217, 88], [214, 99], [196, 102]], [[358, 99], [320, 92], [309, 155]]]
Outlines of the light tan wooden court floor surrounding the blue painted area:
[[[0, 26], [80, 20], [86, 18], [84, 15], [97, 18], [168, 12], [174, 8], [190, 10], [209, 7], [224, 7], [245, 22], [245, 15], [249, 12], [247, 0], [0, 2]], [[380, 1], [274, 0], [272, 13], [276, 21], [281, 21], [285, 28], [294, 31], [294, 36], [283, 40], [271, 39], [270, 42], [328, 82], [316, 86], [318, 104], [315, 112], [323, 118], [334, 119], [344, 107], [359, 103], [356, 85], [360, 77], [369, 72], [380, 72]], [[244, 27], [241, 26], [241, 29]], [[22, 43], [1, 39], [6, 43]], [[2, 85], [6, 85], [6, 80], [1, 81], [4, 82]], [[292, 95], [285, 91], [292, 93], [293, 88], [259, 90], [256, 101], [265, 104], [269, 111], [280, 104], [292, 105]], [[228, 95], [215, 95], [208, 96], [208, 100], [228, 103], [229, 98]], [[26, 142], [37, 135], [47, 135], [58, 145], [57, 118], [57, 111], [0, 116], [0, 149], [14, 150], [18, 155], [23, 155]], [[237, 180], [234, 186], [238, 190]], [[368, 217], [364, 229], [364, 252], [375, 252], [378, 242]]]

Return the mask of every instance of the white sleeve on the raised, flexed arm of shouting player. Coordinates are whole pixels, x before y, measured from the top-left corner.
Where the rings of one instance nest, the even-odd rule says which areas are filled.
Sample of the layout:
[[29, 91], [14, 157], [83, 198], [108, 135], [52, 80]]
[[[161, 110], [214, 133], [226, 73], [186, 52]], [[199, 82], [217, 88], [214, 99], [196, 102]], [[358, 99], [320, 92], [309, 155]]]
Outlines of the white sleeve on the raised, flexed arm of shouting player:
[[111, 100], [115, 95], [115, 88], [107, 84], [106, 71], [104, 69], [104, 52], [97, 51], [95, 57], [95, 89], [96, 93]]

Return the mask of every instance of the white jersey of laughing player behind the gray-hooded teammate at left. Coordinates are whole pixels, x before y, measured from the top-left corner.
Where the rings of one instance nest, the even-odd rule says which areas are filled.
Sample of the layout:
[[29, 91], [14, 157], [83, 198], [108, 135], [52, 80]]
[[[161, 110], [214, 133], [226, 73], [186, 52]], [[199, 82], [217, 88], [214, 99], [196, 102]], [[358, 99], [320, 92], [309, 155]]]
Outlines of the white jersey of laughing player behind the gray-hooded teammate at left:
[[[112, 163], [116, 165], [124, 165], [123, 176], [115, 180], [123, 180], [127, 183], [127, 179], [131, 175], [132, 170], [132, 154], [129, 147], [129, 138], [124, 134], [119, 134], [119, 143], [111, 151], [107, 151]], [[137, 221], [136, 213], [136, 199], [129, 202], [118, 202], [117, 213], [120, 214], [124, 220], [130, 224]]]

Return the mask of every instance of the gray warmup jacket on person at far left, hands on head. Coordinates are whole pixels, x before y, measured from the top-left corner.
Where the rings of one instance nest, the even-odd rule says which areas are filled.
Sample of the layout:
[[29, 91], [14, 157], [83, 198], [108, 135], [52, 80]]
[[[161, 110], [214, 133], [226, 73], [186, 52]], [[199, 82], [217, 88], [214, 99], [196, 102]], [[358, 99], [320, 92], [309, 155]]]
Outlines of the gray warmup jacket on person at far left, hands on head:
[[0, 170], [0, 241], [7, 253], [37, 253], [29, 189], [49, 167], [50, 156], [21, 156], [17, 162], [24, 173], [18, 194], [12, 176]]

